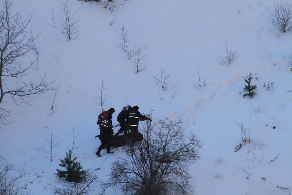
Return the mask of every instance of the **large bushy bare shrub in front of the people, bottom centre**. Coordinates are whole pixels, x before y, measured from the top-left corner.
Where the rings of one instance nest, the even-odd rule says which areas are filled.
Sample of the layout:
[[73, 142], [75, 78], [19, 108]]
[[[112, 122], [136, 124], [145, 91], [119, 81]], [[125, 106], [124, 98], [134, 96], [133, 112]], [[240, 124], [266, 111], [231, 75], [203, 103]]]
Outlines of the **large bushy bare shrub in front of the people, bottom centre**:
[[143, 141], [125, 146], [112, 164], [103, 193], [116, 187], [123, 194], [193, 194], [189, 167], [200, 158], [202, 144], [195, 135], [187, 136], [183, 126], [166, 118], [147, 121]]

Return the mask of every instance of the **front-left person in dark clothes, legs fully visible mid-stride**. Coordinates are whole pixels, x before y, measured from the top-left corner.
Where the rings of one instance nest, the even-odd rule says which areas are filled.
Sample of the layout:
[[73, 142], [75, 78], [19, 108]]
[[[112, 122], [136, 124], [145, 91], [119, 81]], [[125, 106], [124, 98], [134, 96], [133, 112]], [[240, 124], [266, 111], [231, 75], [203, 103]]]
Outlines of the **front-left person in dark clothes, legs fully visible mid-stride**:
[[113, 134], [113, 123], [112, 123], [112, 115], [109, 114], [106, 119], [103, 119], [100, 122], [100, 140], [101, 145], [99, 146], [99, 149], [95, 153], [99, 157], [101, 157], [100, 152], [103, 149], [104, 146], [106, 146], [106, 153], [113, 153], [110, 151], [110, 136]]

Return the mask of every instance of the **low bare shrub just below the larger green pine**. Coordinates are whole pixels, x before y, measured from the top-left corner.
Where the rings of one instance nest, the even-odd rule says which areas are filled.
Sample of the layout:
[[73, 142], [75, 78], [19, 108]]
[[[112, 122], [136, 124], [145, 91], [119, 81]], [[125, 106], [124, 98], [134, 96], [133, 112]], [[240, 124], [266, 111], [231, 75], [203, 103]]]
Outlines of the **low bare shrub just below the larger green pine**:
[[[87, 170], [86, 172], [86, 179], [82, 182], [75, 183], [75, 182], [65, 182], [59, 181], [57, 184], [58, 186], [54, 186], [48, 184], [45, 187], [46, 190], [53, 190], [55, 194], [60, 195], [88, 195], [92, 194], [95, 187], [94, 185], [97, 182], [97, 176], [93, 171]], [[61, 186], [61, 187], [59, 187]]]

